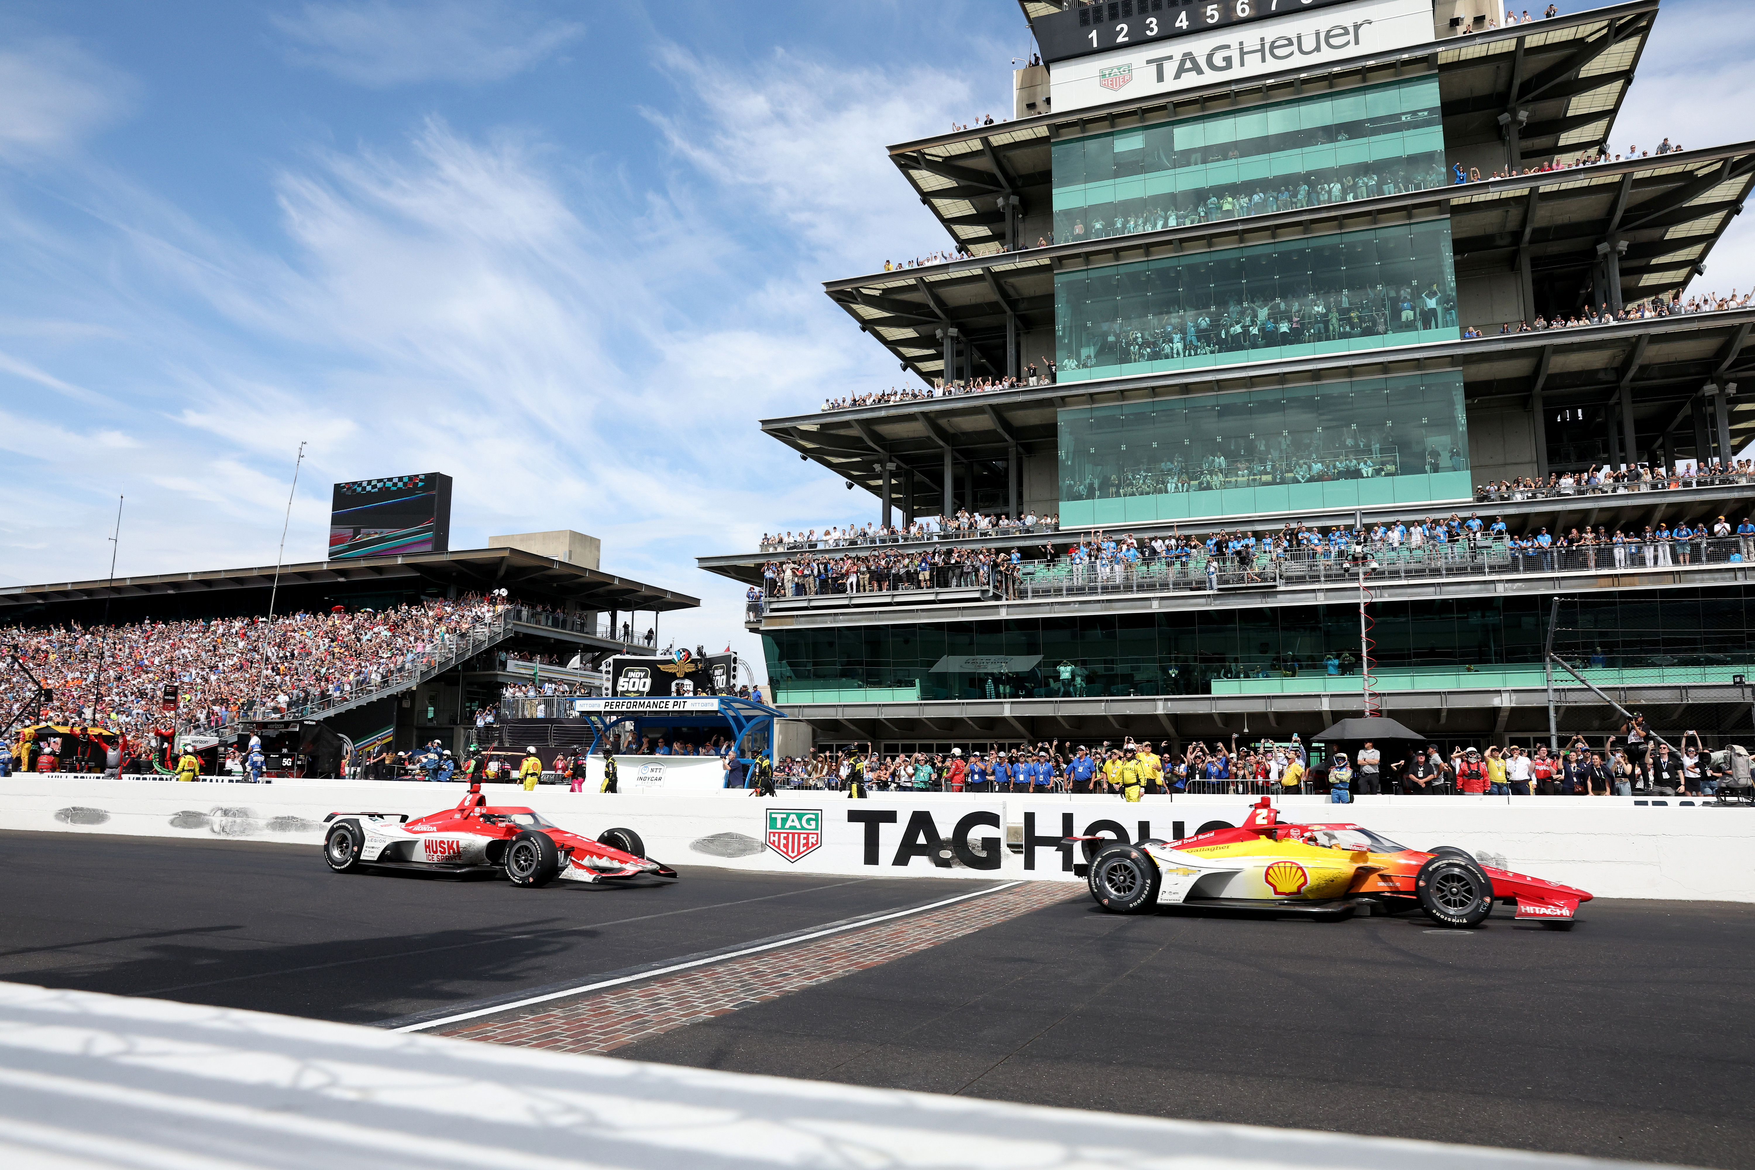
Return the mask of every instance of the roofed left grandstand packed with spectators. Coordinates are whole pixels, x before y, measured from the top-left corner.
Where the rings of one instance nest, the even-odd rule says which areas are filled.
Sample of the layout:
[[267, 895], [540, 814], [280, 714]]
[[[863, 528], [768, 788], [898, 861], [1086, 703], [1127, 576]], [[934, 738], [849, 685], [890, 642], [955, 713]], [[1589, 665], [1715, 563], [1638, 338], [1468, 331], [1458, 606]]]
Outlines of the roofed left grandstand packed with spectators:
[[462, 753], [509, 686], [602, 693], [605, 658], [649, 647], [660, 614], [698, 605], [563, 560], [584, 546], [556, 535], [577, 537], [4, 588], [0, 717], [135, 740], [314, 719], [356, 749]]

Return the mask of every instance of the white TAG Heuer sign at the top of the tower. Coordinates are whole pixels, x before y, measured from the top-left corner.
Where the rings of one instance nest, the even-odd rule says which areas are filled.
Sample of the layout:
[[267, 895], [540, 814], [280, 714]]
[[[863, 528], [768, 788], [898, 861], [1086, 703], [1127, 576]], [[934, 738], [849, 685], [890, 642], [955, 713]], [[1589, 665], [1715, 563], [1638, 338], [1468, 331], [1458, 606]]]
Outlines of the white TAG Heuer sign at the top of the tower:
[[[1197, 12], [1179, 9], [1179, 12]], [[1432, 40], [1430, 0], [1358, 0], [1311, 12], [1118, 47], [1049, 67], [1055, 114], [1246, 77], [1307, 72]]]

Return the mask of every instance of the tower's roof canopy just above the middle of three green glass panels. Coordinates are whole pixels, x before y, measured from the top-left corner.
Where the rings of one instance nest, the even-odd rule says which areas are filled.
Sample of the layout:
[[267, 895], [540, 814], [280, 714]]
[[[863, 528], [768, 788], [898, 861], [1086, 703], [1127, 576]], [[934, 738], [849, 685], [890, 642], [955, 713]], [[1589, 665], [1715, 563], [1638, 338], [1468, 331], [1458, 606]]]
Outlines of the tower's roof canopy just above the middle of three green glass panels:
[[[1429, 219], [1448, 210], [1458, 277], [1515, 272], [1527, 253], [1536, 303], [1546, 305], [1544, 312], [1572, 312], [1583, 305], [1602, 247], [1625, 249], [1618, 254], [1629, 302], [1681, 291], [1741, 212], [1751, 184], [1755, 142], [1743, 142], [995, 253], [828, 281], [823, 288], [862, 332], [921, 379], [942, 374], [939, 330], [948, 326], [969, 340], [979, 375], [999, 377], [1006, 374], [1007, 316], [1016, 317], [1020, 335], [1053, 328], [1057, 272]], [[1021, 361], [1034, 358], [1023, 354]]]

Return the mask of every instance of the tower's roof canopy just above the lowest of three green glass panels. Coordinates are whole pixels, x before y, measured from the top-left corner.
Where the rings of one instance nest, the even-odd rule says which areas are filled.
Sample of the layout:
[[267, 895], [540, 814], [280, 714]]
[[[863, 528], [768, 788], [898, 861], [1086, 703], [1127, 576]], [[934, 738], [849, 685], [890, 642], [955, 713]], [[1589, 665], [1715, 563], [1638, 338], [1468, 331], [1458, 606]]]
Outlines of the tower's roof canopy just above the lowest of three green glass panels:
[[[1014, 446], [1025, 454], [1057, 451], [1062, 407], [1441, 368], [1462, 370], [1471, 402], [1534, 402], [1539, 393], [1548, 410], [1604, 407], [1625, 388], [1646, 451], [1688, 424], [1690, 403], [1706, 382], [1755, 379], [1751, 326], [1755, 309], [1655, 317], [797, 414], [765, 419], [762, 430], [874, 493], [881, 491], [883, 461], [911, 470], [916, 498], [927, 502], [921, 512], [937, 510], [930, 502], [942, 491], [946, 451], [1004, 482], [1002, 461]], [[1755, 439], [1755, 393], [1732, 400], [1730, 430], [1736, 449]], [[997, 470], [983, 468], [992, 461], [999, 461]]]

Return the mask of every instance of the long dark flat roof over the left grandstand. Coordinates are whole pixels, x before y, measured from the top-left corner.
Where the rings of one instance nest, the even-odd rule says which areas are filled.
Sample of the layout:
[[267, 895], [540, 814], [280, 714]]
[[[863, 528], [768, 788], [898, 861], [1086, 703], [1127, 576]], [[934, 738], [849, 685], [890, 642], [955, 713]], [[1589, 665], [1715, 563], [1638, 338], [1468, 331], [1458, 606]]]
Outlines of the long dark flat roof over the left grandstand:
[[[233, 610], [244, 593], [274, 588], [276, 568], [218, 568], [147, 577], [118, 577], [114, 582], [70, 581], [65, 584], [0, 588], [0, 619], [9, 612], [40, 612], [60, 603], [82, 602], [188, 602], [211, 598], [216, 609]], [[537, 556], [521, 549], [469, 549], [458, 553], [412, 553], [346, 561], [304, 561], [281, 565], [279, 589], [300, 598], [312, 589], [332, 593], [407, 591], [428, 586], [455, 588], [458, 593], [505, 588], [525, 600], [574, 603], [581, 610], [674, 610], [700, 605], [698, 598], [670, 593], [595, 568]]]

